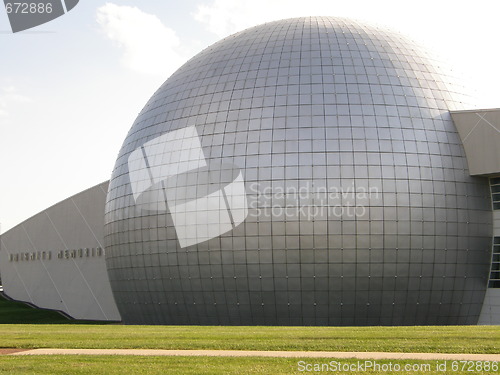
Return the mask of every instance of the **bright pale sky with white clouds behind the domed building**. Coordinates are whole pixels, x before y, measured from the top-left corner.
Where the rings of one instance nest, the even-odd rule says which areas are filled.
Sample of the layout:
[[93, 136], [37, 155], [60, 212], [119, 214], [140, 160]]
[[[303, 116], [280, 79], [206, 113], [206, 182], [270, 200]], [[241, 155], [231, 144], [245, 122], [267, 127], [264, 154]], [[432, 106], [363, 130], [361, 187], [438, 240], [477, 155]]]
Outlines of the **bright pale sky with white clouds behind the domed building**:
[[317, 15], [385, 26], [441, 55], [480, 107], [499, 108], [498, 14], [498, 0], [80, 0], [13, 34], [0, 7], [0, 231], [108, 180], [149, 97], [234, 32]]

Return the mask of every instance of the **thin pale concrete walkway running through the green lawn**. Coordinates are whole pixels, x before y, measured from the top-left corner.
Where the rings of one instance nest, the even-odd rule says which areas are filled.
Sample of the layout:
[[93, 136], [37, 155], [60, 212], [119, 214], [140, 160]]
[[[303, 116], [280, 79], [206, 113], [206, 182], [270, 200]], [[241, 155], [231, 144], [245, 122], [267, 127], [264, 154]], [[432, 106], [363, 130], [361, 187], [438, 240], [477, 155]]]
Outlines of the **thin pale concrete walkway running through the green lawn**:
[[140, 355], [208, 357], [356, 358], [498, 361], [500, 354], [384, 353], [384, 352], [298, 352], [256, 350], [157, 350], [157, 349], [33, 349], [9, 355]]

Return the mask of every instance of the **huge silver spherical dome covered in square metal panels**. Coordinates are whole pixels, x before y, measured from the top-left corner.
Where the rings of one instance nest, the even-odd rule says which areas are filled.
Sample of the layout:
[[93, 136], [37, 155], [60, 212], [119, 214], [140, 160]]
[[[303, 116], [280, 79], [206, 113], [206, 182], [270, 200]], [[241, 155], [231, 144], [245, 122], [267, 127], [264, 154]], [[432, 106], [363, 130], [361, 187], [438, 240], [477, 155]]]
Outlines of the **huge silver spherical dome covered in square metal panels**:
[[491, 261], [449, 72], [331, 17], [221, 40], [175, 72], [110, 181], [106, 264], [128, 324], [476, 324]]

